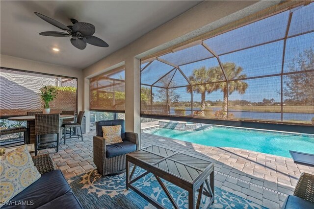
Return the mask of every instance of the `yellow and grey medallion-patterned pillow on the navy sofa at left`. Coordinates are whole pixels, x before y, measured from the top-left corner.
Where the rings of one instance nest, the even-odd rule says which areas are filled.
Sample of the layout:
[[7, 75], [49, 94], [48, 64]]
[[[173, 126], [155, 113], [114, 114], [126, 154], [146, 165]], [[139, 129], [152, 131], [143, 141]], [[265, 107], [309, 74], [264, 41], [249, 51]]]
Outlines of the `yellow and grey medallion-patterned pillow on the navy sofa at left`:
[[5, 153], [0, 162], [0, 203], [9, 201], [40, 177], [27, 145]]

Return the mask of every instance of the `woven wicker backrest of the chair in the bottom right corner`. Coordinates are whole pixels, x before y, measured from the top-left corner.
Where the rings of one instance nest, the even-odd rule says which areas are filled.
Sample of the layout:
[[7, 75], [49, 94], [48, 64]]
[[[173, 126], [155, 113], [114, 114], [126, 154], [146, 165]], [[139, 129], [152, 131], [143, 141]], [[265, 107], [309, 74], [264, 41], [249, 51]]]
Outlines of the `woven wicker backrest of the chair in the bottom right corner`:
[[314, 175], [302, 173], [295, 186], [293, 195], [314, 202]]

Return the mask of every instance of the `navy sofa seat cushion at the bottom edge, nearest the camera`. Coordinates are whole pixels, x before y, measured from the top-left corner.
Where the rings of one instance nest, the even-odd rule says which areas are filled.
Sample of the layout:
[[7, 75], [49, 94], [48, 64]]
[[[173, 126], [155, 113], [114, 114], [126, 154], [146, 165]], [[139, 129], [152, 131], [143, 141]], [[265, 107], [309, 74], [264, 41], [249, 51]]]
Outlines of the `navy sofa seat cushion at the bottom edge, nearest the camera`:
[[82, 209], [77, 197], [68, 192], [60, 197], [55, 198], [49, 203], [40, 206], [38, 209]]

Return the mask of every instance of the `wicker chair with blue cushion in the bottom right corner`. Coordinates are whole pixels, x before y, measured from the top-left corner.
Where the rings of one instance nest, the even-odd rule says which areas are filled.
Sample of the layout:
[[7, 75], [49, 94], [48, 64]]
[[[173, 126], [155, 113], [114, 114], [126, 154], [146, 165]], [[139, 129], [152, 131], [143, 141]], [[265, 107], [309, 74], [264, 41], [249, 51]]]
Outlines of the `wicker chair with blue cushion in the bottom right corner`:
[[293, 195], [289, 195], [283, 209], [314, 208], [314, 175], [302, 173]]

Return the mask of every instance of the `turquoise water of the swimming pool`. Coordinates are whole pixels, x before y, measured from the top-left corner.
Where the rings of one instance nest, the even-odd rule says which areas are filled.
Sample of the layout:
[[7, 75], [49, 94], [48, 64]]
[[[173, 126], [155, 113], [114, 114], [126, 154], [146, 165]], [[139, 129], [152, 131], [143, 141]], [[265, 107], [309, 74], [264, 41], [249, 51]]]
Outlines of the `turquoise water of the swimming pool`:
[[314, 154], [314, 136], [295, 136], [225, 127], [212, 127], [200, 131], [157, 128], [144, 132], [207, 146], [235, 147], [288, 158], [291, 158], [289, 150]]

